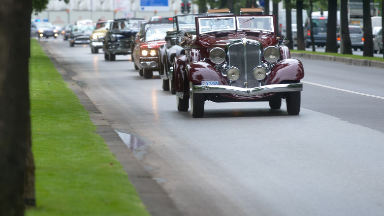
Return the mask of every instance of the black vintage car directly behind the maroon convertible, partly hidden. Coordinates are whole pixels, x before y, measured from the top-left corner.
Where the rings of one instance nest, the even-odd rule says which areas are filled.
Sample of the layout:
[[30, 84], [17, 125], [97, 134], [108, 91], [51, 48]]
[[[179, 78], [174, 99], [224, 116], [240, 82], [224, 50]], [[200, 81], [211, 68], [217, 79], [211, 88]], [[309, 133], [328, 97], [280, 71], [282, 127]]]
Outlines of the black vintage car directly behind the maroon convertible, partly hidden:
[[172, 63], [176, 55], [183, 50], [183, 41], [186, 33], [196, 34], [195, 17], [209, 17], [229, 15], [229, 9], [211, 9], [205, 14], [184, 14], [173, 18], [173, 31], [168, 31], [165, 36], [166, 44], [159, 48], [159, 73], [162, 80], [162, 89], [175, 94], [173, 84]]

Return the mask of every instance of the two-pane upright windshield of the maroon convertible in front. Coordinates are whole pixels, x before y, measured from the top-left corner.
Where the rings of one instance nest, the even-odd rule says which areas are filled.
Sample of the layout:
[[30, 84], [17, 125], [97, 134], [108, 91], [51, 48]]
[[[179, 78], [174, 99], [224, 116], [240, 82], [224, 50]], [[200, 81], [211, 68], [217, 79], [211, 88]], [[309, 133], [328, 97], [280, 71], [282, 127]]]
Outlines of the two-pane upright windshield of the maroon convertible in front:
[[252, 30], [273, 32], [272, 16], [239, 16], [199, 18], [199, 33], [228, 30]]

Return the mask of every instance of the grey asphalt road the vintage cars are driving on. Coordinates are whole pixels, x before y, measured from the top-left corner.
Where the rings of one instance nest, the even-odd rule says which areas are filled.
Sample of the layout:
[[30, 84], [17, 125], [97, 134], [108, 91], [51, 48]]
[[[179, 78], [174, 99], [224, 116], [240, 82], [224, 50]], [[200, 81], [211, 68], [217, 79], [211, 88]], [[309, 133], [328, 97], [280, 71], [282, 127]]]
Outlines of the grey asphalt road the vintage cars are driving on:
[[61, 39], [43, 47], [82, 87], [184, 216], [382, 216], [384, 70], [300, 59], [300, 115], [267, 102], [178, 112], [157, 73]]

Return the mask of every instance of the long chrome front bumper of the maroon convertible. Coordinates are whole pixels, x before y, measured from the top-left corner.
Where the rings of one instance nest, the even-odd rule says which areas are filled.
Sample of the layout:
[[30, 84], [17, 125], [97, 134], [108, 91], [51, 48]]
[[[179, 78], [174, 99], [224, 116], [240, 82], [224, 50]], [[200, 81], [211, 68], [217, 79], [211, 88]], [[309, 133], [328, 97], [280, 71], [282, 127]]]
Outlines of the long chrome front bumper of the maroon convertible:
[[241, 96], [255, 96], [272, 92], [302, 91], [303, 83], [271, 84], [256, 88], [241, 88], [229, 85], [193, 85], [190, 93], [224, 93]]

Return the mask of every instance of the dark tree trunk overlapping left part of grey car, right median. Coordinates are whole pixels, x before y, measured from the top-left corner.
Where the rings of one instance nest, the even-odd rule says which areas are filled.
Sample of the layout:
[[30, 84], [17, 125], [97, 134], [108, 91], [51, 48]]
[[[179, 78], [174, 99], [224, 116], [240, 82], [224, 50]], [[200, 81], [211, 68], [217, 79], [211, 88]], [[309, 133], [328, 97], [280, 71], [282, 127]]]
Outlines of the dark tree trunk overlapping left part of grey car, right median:
[[340, 1], [340, 53], [352, 54], [352, 44], [350, 37], [350, 29], [348, 27], [348, 0]]

